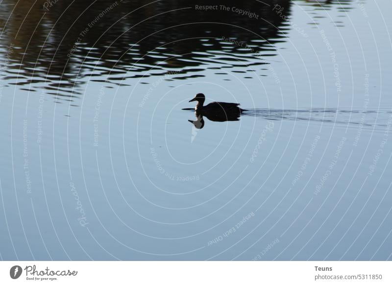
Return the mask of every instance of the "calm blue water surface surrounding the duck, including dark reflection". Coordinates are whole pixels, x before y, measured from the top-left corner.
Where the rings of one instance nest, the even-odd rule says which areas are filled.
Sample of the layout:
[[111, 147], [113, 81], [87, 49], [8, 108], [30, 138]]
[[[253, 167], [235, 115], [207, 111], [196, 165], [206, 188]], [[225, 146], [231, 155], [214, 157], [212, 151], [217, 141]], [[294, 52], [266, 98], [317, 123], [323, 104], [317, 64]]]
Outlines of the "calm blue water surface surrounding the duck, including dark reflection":
[[391, 2], [208, 3], [1, 2], [1, 259], [391, 260]]

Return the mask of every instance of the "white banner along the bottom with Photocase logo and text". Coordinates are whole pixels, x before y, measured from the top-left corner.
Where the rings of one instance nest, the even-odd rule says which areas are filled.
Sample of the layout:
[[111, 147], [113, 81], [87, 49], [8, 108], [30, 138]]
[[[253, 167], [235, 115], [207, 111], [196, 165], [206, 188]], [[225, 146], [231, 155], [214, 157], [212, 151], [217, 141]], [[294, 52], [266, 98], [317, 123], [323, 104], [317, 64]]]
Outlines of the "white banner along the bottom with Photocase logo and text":
[[392, 284], [392, 261], [1, 261], [0, 284]]

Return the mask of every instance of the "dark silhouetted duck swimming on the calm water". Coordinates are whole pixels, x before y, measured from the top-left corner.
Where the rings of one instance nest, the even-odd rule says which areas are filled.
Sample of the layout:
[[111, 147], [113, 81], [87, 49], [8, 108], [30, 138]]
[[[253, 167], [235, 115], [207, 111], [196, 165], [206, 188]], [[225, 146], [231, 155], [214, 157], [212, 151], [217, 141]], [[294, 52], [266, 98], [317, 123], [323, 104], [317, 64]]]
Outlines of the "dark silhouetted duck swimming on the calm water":
[[189, 102], [197, 101], [195, 112], [198, 115], [205, 116], [212, 121], [234, 121], [239, 120], [241, 113], [247, 111], [241, 109], [239, 103], [211, 102], [204, 106], [205, 95], [196, 94], [195, 98]]

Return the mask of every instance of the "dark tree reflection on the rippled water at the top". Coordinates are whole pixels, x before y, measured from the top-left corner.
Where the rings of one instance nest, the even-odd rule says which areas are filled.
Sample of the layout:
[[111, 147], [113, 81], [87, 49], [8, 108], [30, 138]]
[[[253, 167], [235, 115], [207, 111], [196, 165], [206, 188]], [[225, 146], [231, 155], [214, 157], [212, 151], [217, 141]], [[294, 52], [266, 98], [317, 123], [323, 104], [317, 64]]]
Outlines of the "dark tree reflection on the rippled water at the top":
[[[53, 92], [77, 86], [90, 75], [120, 83], [125, 77], [176, 70], [181, 79], [189, 71], [203, 71], [206, 63], [220, 69], [233, 61], [211, 57], [211, 50], [243, 55], [247, 65], [261, 64], [252, 60], [256, 53], [276, 53], [274, 44], [284, 41], [291, 27], [274, 7], [279, 5], [289, 17], [289, 0], [222, 2], [228, 10], [220, 2], [205, 0], [5, 0], [0, 12], [1, 52], [11, 44], [15, 47], [15, 84]], [[195, 5], [218, 9], [204, 11]], [[222, 37], [251, 49], [227, 44]]]

